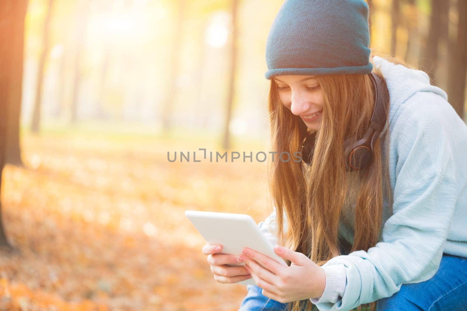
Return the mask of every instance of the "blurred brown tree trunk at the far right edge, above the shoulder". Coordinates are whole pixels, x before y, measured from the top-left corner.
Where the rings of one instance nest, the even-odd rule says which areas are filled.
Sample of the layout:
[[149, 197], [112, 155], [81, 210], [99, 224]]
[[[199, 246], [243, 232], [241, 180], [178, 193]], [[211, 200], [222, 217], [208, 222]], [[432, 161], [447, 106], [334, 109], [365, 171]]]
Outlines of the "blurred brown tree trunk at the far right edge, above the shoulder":
[[467, 74], [467, 1], [457, 1], [457, 35], [449, 41], [447, 94], [461, 118], [464, 118], [465, 87]]

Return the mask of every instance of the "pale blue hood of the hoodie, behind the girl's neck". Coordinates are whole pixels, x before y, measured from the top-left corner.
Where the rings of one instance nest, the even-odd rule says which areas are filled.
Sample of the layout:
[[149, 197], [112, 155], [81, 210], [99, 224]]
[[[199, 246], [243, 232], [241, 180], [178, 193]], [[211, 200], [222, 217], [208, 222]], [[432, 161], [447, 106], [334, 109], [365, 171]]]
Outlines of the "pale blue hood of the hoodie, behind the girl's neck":
[[422, 70], [410, 69], [386, 59], [374, 56], [375, 68], [381, 70], [389, 91], [389, 118], [386, 121], [380, 137], [391, 123], [397, 109], [417, 92], [432, 92], [440, 95], [447, 101], [447, 94], [439, 87], [430, 84], [430, 77]]

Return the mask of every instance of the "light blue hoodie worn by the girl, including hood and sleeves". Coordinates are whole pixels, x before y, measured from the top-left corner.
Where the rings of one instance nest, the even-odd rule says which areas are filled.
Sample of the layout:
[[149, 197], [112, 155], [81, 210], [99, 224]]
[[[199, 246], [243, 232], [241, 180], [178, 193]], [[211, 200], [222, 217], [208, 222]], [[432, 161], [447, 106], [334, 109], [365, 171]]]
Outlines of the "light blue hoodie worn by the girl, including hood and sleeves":
[[[389, 119], [380, 138], [386, 139], [389, 126], [393, 202], [385, 195], [382, 237], [375, 247], [322, 266], [326, 287], [314, 301], [320, 311], [351, 310], [392, 296], [404, 283], [426, 281], [443, 253], [467, 257], [467, 126], [425, 72], [378, 56], [373, 62], [389, 90]], [[354, 208], [345, 215], [352, 224]], [[258, 224], [263, 232], [273, 233], [275, 215]], [[340, 235], [352, 243], [353, 225], [341, 223]], [[345, 271], [345, 290], [330, 299], [337, 297], [340, 282], [344, 288], [339, 271]]]

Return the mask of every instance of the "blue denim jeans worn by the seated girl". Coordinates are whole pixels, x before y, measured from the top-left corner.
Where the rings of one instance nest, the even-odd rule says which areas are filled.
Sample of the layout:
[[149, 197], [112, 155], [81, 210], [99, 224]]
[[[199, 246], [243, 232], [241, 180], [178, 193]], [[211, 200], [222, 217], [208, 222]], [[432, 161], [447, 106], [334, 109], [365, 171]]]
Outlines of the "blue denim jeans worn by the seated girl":
[[[263, 296], [258, 286], [247, 285], [247, 289], [239, 311], [286, 310], [287, 304]], [[389, 310], [467, 310], [467, 258], [443, 254], [439, 269], [431, 279], [402, 284], [394, 295], [377, 301], [376, 311]]]

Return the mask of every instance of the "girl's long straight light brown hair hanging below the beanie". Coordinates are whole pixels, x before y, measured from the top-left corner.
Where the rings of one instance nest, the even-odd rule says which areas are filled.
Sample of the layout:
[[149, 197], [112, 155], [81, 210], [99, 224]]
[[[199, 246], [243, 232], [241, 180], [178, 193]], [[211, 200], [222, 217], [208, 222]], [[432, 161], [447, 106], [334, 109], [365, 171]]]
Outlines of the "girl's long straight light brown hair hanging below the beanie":
[[[407, 65], [395, 57], [385, 58]], [[373, 55], [370, 56], [373, 63], [372, 60]], [[382, 77], [375, 66], [373, 72]], [[390, 195], [391, 191], [388, 157], [383, 157], [381, 149], [389, 148], [389, 126], [384, 133], [385, 146], [381, 145], [380, 138], [376, 139], [370, 165], [360, 171], [346, 173], [344, 141], [347, 137], [354, 137], [355, 141], [363, 137], [375, 106], [369, 76], [323, 75], [317, 78], [323, 91], [324, 105], [321, 125], [315, 132], [311, 165], [270, 161], [268, 180], [271, 199], [276, 207], [279, 243], [305, 254], [321, 266], [341, 255], [338, 229], [349, 193], [355, 194], [354, 203], [351, 203], [355, 206], [354, 242], [350, 250], [353, 252], [368, 251], [380, 239], [383, 187], [386, 186], [386, 194]], [[386, 95], [389, 100], [389, 94]], [[389, 109], [387, 112], [389, 116]], [[273, 79], [269, 90], [269, 119], [272, 150], [277, 154], [300, 151], [307, 135], [306, 126], [300, 117], [280, 103]], [[350, 179], [357, 182], [349, 182]], [[352, 186], [349, 188], [349, 185]], [[283, 230], [283, 212], [288, 221], [287, 232]], [[289, 310], [300, 311], [303, 306], [306, 306], [305, 310], [311, 310], [311, 301], [291, 302]], [[375, 310], [375, 306], [376, 302], [370, 303], [370, 310]], [[361, 310], [361, 306], [358, 310]]]

